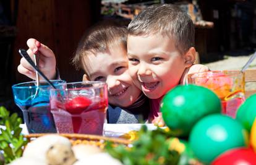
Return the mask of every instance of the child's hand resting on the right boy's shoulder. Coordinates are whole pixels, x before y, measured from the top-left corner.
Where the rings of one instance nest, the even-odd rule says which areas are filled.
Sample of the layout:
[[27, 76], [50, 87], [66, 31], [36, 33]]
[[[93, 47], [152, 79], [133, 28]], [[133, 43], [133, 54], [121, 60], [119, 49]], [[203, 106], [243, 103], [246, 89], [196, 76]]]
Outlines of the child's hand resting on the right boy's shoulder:
[[184, 85], [187, 83], [187, 75], [195, 74], [199, 72], [207, 72], [209, 68], [207, 66], [203, 66], [202, 64], [194, 64], [193, 66], [187, 68], [181, 77], [181, 84]]

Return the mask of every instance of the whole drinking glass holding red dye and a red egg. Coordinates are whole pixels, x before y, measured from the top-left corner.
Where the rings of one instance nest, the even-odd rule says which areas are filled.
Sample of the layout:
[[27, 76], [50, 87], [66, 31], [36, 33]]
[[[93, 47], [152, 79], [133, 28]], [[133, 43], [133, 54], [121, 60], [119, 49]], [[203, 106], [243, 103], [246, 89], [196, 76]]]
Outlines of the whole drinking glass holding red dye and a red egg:
[[67, 83], [50, 90], [51, 113], [58, 133], [103, 134], [108, 108], [104, 82]]

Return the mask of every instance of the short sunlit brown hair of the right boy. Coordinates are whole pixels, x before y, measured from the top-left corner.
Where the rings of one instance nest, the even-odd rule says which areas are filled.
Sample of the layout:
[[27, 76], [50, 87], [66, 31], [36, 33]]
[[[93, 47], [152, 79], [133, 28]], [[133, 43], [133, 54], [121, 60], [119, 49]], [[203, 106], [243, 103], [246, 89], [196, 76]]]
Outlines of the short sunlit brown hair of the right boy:
[[195, 44], [195, 28], [190, 16], [173, 4], [156, 4], [143, 9], [128, 25], [128, 35], [168, 35], [179, 53]]

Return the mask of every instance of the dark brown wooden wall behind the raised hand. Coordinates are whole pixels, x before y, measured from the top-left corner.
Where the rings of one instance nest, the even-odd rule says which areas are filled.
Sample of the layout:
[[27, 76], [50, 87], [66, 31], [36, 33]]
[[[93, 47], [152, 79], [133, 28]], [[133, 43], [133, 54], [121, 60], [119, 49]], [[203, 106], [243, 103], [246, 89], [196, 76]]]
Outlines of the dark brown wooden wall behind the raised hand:
[[17, 14], [18, 33], [14, 44], [16, 82], [29, 80], [19, 74], [19, 48], [26, 48], [28, 38], [36, 38], [53, 49], [61, 78], [68, 82], [82, 80], [82, 72], [70, 64], [83, 32], [99, 19], [100, 1], [22, 0]]

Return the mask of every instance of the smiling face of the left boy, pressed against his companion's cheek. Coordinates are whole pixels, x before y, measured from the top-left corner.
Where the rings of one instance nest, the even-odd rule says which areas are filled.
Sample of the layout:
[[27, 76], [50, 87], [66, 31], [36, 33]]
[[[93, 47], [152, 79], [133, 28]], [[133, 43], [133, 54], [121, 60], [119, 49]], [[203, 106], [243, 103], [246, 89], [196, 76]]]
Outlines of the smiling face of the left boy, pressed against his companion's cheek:
[[112, 46], [106, 53], [89, 54], [86, 60], [88, 78], [107, 83], [110, 104], [127, 107], [136, 101], [141, 91], [129, 75], [126, 49]]

